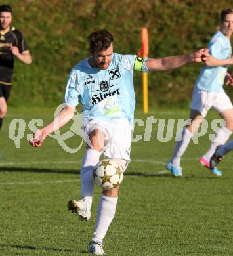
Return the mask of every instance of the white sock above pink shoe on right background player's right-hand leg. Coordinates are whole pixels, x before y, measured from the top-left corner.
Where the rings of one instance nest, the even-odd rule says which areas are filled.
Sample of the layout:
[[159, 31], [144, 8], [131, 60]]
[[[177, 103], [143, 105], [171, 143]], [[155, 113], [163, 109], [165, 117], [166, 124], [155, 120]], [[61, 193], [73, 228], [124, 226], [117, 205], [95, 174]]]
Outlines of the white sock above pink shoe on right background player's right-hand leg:
[[209, 150], [207, 151], [207, 153], [205, 153], [203, 158], [205, 158], [207, 161], [209, 161], [211, 156], [213, 156], [213, 154], [215, 153], [217, 146], [219, 146], [221, 144], [225, 144], [226, 140], [229, 139], [231, 134], [232, 134], [232, 131], [227, 129], [225, 126], [221, 126], [219, 128], [219, 130], [217, 131], [215, 139], [211, 143]]

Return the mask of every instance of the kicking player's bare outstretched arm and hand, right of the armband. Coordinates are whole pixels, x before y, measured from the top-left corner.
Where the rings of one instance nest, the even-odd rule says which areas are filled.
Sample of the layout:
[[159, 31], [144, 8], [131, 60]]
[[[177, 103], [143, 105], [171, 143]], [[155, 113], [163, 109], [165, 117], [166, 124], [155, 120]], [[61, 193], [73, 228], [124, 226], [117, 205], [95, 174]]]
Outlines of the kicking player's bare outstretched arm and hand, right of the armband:
[[208, 49], [200, 49], [196, 53], [184, 54], [179, 56], [170, 56], [164, 58], [148, 58], [146, 66], [148, 70], [173, 70], [192, 62], [203, 62], [209, 56]]

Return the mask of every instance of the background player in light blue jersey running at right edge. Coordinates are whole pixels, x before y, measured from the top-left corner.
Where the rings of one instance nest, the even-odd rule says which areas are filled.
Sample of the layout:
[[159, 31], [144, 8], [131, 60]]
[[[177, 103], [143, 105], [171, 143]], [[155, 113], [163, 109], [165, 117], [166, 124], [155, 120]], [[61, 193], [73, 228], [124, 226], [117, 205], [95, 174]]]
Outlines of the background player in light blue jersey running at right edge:
[[207, 153], [200, 158], [201, 165], [210, 169], [211, 173], [221, 176], [222, 173], [217, 167], [211, 167], [209, 160], [215, 149], [224, 144], [233, 131], [233, 107], [230, 98], [222, 88], [224, 80], [233, 85], [232, 76], [227, 72], [228, 65], [233, 64], [232, 47], [230, 37], [233, 32], [233, 9], [224, 9], [221, 12], [221, 28], [213, 35], [209, 42], [209, 58], [205, 62], [192, 93], [190, 105], [190, 124], [182, 129], [180, 140], [175, 146], [173, 157], [167, 163], [175, 177], [182, 176], [180, 160], [184, 154], [194, 133], [198, 131], [203, 119], [210, 108], [215, 109], [226, 121], [226, 125], [219, 128], [215, 139]]

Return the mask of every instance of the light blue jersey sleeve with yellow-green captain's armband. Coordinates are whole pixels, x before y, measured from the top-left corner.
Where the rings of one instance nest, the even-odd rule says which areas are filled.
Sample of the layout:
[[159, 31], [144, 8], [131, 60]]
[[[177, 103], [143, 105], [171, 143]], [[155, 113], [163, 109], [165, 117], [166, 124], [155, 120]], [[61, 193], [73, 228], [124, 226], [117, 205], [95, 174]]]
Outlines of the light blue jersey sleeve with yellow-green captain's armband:
[[125, 62], [125, 66], [134, 71], [143, 71], [148, 72], [148, 68], [146, 67], [146, 59], [147, 58], [140, 58], [137, 55], [123, 55], [123, 60]]

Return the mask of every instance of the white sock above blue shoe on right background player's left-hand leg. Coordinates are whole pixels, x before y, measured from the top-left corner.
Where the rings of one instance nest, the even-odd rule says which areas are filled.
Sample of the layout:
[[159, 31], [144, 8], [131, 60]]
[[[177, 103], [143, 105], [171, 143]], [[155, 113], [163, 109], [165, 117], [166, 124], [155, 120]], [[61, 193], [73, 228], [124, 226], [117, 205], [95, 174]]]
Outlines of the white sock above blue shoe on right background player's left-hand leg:
[[186, 127], [184, 127], [180, 133], [180, 139], [177, 141], [177, 144], [175, 146], [175, 150], [173, 153], [173, 157], [171, 158], [171, 163], [173, 165], [180, 166], [180, 158], [184, 154], [186, 148], [188, 147], [188, 144], [192, 137], [194, 136], [193, 133], [191, 133]]

